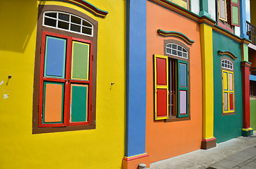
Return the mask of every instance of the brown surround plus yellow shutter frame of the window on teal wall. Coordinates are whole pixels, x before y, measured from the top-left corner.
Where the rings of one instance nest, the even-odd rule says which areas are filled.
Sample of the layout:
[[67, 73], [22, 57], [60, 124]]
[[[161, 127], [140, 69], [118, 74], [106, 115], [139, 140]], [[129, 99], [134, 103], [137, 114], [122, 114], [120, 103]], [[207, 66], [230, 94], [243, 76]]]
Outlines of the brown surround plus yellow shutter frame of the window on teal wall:
[[[228, 60], [233, 64], [233, 70], [229, 68], [223, 68], [222, 67], [222, 61], [223, 60]], [[234, 73], [235, 67], [234, 67], [234, 62], [231, 60], [231, 58], [228, 57], [222, 57], [221, 58], [221, 96], [222, 96], [222, 115], [234, 115], [235, 114], [235, 73]], [[228, 97], [228, 111], [224, 111], [224, 89], [223, 89], [223, 72], [226, 73], [232, 73], [233, 75], [233, 111], [229, 110], [229, 97]], [[228, 86], [228, 83], [227, 83]], [[228, 89], [228, 96], [229, 96], [229, 89]]]

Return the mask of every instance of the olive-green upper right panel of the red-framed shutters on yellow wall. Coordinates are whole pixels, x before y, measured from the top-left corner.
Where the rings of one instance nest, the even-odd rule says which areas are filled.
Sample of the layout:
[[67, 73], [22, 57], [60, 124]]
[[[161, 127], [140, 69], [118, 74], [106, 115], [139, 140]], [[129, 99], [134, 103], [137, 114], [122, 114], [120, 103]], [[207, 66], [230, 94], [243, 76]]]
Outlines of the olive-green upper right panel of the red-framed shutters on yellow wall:
[[89, 79], [90, 44], [73, 42], [71, 58], [71, 79]]

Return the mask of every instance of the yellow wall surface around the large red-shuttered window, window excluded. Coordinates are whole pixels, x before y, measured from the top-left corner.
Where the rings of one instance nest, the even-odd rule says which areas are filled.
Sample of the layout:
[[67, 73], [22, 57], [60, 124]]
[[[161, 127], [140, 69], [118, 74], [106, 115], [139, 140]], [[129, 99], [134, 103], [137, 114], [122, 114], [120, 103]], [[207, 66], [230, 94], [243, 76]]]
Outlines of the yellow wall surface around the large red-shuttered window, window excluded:
[[[125, 1], [87, 0], [98, 18], [96, 129], [32, 134], [37, 31], [35, 0], [0, 1], [0, 168], [121, 168], [124, 157]], [[8, 75], [12, 75], [8, 80]], [[110, 89], [111, 82], [115, 82]], [[8, 98], [4, 99], [4, 94]]]

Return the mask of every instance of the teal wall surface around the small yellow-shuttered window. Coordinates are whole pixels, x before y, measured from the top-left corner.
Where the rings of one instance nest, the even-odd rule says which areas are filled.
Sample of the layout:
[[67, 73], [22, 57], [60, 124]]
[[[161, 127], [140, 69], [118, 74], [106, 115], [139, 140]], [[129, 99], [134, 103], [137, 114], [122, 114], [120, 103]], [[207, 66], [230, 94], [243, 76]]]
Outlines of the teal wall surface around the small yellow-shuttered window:
[[[243, 128], [242, 76], [240, 69], [241, 46], [219, 32], [213, 31], [214, 52], [214, 137], [217, 143], [240, 137]], [[230, 51], [236, 57], [234, 63], [235, 115], [222, 115], [221, 57], [218, 51]]]

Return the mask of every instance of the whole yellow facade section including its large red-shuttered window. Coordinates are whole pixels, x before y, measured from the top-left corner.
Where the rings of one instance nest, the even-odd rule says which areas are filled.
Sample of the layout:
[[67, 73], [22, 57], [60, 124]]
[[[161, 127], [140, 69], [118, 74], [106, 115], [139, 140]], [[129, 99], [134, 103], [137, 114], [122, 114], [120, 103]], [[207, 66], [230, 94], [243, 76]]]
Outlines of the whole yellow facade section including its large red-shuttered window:
[[0, 168], [121, 168], [124, 1], [0, 6]]

